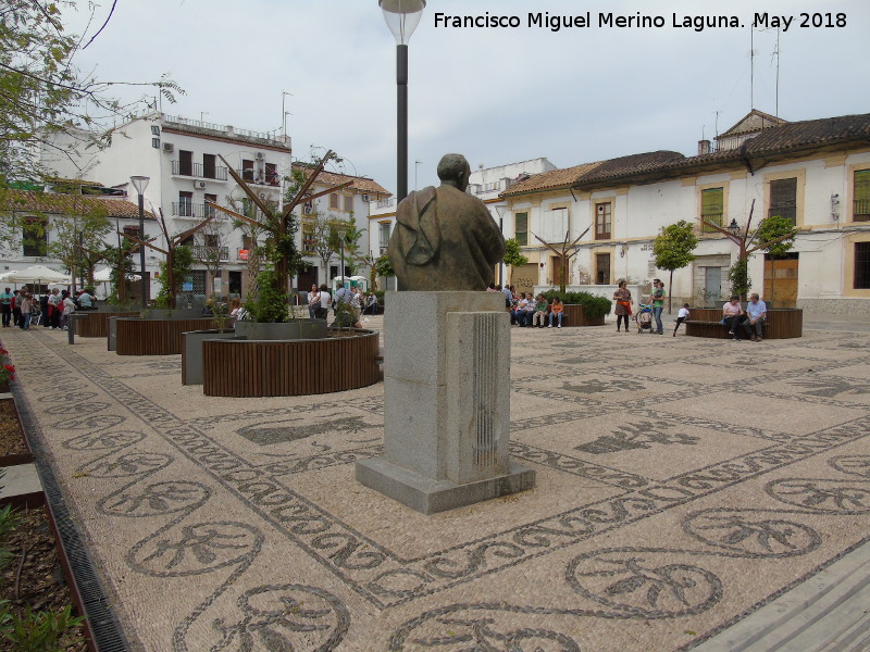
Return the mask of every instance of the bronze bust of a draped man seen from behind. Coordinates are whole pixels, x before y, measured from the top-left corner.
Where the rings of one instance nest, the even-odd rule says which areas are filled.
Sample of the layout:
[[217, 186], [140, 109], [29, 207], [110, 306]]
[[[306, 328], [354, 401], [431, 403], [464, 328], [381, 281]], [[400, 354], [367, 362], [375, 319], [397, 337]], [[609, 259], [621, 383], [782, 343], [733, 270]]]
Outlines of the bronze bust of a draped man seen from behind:
[[471, 167], [461, 154], [438, 163], [442, 185], [411, 192], [396, 209], [387, 255], [399, 290], [485, 290], [505, 255], [486, 205], [465, 193]]

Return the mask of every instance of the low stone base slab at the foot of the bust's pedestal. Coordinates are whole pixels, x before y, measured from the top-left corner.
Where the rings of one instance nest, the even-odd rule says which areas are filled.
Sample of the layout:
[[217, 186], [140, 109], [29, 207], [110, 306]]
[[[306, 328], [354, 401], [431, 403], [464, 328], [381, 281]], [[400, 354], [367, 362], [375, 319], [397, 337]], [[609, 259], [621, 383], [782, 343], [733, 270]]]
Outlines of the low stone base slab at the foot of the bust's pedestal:
[[417, 512], [436, 514], [532, 489], [535, 472], [511, 462], [507, 475], [456, 485], [449, 480], [427, 478], [390, 464], [384, 457], [375, 457], [357, 462], [357, 481]]

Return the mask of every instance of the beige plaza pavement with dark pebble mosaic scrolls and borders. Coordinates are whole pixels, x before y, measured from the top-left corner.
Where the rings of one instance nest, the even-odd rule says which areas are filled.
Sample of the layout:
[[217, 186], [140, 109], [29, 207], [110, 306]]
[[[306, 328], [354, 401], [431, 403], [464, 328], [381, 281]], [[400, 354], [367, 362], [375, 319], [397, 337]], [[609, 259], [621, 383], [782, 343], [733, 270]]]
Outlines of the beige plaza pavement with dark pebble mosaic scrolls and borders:
[[383, 385], [210, 398], [2, 335], [135, 650], [686, 650], [870, 531], [870, 334], [514, 329], [537, 487], [433, 516], [353, 480]]

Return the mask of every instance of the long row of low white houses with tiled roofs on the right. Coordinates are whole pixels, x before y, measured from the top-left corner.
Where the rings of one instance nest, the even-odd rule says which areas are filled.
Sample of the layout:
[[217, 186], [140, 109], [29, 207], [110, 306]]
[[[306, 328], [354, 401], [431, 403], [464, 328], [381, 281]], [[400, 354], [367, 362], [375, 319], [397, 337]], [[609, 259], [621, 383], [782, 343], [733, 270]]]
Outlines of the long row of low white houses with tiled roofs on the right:
[[[507, 237], [524, 244], [529, 264], [512, 271], [522, 288], [558, 285], [559, 248], [581, 236], [569, 285], [647, 285], [657, 269], [652, 241], [663, 226], [697, 227], [696, 260], [674, 272], [675, 301], [719, 302], [737, 247], [703, 220], [745, 229], [768, 215], [798, 229], [782, 260], [749, 258], [753, 291], [776, 305], [807, 311], [870, 313], [870, 115], [785, 123], [753, 112], [697, 156], [649, 152], [533, 176], [502, 192], [510, 213]], [[711, 151], [712, 150], [712, 151]]]

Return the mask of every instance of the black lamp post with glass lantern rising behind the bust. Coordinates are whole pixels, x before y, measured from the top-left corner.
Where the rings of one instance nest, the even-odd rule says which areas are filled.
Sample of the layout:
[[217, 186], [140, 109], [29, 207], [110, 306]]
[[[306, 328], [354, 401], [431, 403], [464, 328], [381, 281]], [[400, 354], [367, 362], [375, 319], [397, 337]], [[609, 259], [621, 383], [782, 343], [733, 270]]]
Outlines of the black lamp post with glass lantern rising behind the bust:
[[426, 0], [377, 0], [377, 4], [396, 37], [396, 201], [400, 202], [408, 195], [408, 41], [420, 24]]

